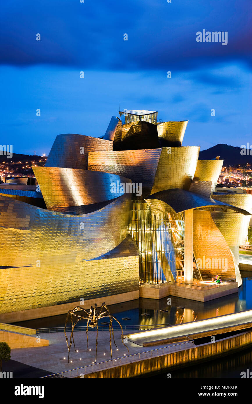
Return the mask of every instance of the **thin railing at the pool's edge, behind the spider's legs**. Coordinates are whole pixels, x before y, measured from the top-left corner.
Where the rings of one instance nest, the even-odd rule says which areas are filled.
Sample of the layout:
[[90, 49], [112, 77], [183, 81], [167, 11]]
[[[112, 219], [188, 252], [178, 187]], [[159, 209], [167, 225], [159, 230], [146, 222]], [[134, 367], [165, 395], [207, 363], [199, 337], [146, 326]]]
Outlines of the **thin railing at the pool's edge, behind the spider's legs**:
[[[123, 331], [144, 331], [144, 330], [152, 330], [153, 328], [162, 328], [162, 327], [168, 327], [171, 324], [144, 324], [144, 325], [122, 325]], [[89, 328], [89, 331], [93, 330], [95, 331], [97, 328]], [[109, 329], [109, 325], [107, 326], [98, 326], [99, 331], [107, 331]], [[66, 332], [71, 332], [72, 327], [66, 327]], [[74, 332], [76, 331], [86, 331], [87, 330], [87, 325], [85, 326], [76, 326], [74, 327]], [[121, 331], [121, 327], [118, 325], [113, 324], [113, 330], [114, 331]], [[37, 328], [37, 334], [45, 334], [45, 333], [51, 333], [51, 332], [64, 332], [64, 327], [50, 327], [50, 328]]]

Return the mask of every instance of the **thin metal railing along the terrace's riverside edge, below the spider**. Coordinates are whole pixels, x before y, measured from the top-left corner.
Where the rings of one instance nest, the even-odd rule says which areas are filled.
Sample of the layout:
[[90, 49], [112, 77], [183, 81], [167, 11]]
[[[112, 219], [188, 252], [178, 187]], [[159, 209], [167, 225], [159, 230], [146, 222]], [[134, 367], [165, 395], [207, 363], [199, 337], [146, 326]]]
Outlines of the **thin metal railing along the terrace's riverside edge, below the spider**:
[[176, 345], [169, 345], [168, 347], [152, 349], [151, 351], [145, 351], [140, 353], [134, 353], [133, 355], [122, 356], [121, 358], [110, 359], [105, 362], [95, 363], [92, 365], [83, 366], [81, 368], [75, 368], [71, 370], [66, 370], [64, 372], [55, 373], [54, 375], [43, 376], [44, 378], [62, 378], [62, 377], [78, 377], [84, 376], [87, 373], [97, 372], [98, 370], [104, 370], [110, 367], [118, 366], [120, 364], [132, 363], [137, 360], [151, 358], [152, 356], [159, 356], [165, 353], [172, 353], [175, 351], [180, 351], [186, 348], [193, 347], [194, 340], [182, 342]]

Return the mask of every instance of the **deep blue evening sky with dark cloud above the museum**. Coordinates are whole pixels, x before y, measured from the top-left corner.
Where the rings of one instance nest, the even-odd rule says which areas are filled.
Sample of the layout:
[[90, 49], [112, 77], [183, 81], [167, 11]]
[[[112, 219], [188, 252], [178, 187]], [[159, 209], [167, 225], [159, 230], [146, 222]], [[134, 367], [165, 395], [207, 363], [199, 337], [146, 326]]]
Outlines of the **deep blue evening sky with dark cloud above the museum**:
[[[42, 154], [59, 133], [101, 136], [119, 102], [189, 120], [184, 145], [251, 143], [251, 11], [249, 0], [8, 0], [1, 143]], [[228, 44], [196, 42], [203, 29]]]

